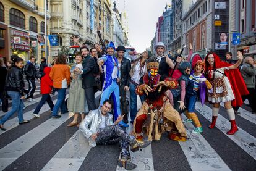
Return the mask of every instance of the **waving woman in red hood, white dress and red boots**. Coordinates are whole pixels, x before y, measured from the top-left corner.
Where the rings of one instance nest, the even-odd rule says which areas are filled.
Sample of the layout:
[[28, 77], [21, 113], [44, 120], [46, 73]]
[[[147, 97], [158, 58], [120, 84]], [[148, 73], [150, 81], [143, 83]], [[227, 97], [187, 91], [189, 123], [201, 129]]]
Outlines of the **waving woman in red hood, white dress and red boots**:
[[224, 107], [229, 115], [229, 120], [231, 122], [231, 130], [227, 132], [229, 135], [233, 135], [238, 131], [235, 121], [234, 110], [231, 106], [231, 101], [235, 100], [235, 94], [230, 81], [234, 78], [230, 76], [226, 77], [229, 70], [237, 69], [242, 62], [243, 56], [240, 51], [237, 51], [237, 62], [234, 65], [228, 64], [220, 60], [215, 53], [210, 52], [205, 57], [205, 66], [207, 74], [207, 79], [213, 86], [212, 89], [208, 90], [208, 101], [213, 103], [213, 119], [209, 128], [214, 128], [218, 112], [220, 109], [220, 102], [224, 103]]

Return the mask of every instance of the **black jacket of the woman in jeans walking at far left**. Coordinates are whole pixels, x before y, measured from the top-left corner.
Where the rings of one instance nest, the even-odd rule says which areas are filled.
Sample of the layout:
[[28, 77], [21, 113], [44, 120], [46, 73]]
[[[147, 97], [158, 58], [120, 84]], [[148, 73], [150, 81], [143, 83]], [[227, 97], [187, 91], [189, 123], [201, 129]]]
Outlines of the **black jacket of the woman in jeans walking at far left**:
[[7, 72], [6, 90], [18, 91], [20, 96], [24, 96], [24, 86], [22, 70], [13, 65]]

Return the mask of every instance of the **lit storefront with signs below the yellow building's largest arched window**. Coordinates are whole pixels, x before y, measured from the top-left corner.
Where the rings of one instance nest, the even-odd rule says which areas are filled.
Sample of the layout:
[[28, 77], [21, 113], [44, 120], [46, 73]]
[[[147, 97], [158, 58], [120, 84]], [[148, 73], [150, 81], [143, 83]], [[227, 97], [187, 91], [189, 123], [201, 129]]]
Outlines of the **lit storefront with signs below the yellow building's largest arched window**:
[[25, 60], [30, 57], [30, 36], [29, 33], [10, 28], [11, 54], [17, 54]]

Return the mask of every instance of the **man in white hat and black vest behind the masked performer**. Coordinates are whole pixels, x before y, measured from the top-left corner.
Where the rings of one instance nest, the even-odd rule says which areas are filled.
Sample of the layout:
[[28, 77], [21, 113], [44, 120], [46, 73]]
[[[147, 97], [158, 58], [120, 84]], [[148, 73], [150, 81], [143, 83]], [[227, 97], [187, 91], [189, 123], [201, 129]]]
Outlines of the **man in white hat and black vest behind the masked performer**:
[[[155, 45], [155, 51], [156, 51], [156, 60], [159, 63], [159, 70], [158, 73], [162, 77], [168, 77], [169, 75], [169, 68], [174, 69], [173, 61], [166, 55], [164, 55], [164, 52], [166, 51], [166, 46], [163, 42], [158, 42]], [[177, 57], [176, 62], [181, 62], [181, 57]]]

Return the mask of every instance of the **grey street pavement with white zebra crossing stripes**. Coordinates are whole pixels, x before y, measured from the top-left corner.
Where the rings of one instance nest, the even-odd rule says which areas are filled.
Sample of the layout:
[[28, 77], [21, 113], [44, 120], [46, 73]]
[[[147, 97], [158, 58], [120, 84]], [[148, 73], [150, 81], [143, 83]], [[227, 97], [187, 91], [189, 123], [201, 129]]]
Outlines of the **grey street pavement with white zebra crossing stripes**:
[[[26, 84], [27, 85], [27, 84]], [[40, 117], [32, 113], [41, 99], [39, 83], [35, 92], [36, 102], [27, 102], [24, 119], [30, 123], [19, 125], [17, 114], [7, 120], [0, 130], [0, 170], [124, 170], [117, 166], [120, 157], [118, 144], [91, 148], [78, 127], [67, 128], [72, 115], [60, 119], [49, 118], [51, 110], [45, 104]], [[52, 96], [56, 102], [58, 93]], [[100, 92], [95, 94], [98, 104]], [[66, 98], [68, 98], [68, 91]], [[11, 101], [10, 106], [11, 107]], [[186, 142], [168, 139], [164, 133], [160, 141], [132, 153], [134, 170], [255, 170], [256, 168], [256, 115], [245, 104], [236, 115], [239, 131], [226, 135], [230, 129], [228, 115], [221, 104], [216, 128], [210, 130], [211, 104], [196, 103], [196, 113], [202, 123], [203, 133], [193, 134], [192, 123], [185, 123]], [[138, 104], [140, 102], [138, 98]], [[0, 112], [0, 118], [4, 112]], [[185, 115], [181, 115], [186, 119]], [[129, 133], [132, 125], [127, 128]]]

